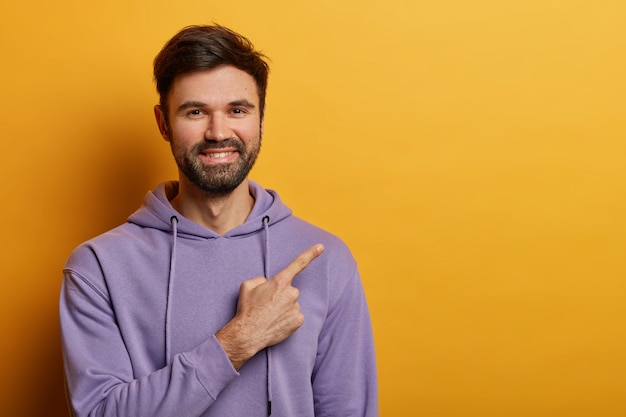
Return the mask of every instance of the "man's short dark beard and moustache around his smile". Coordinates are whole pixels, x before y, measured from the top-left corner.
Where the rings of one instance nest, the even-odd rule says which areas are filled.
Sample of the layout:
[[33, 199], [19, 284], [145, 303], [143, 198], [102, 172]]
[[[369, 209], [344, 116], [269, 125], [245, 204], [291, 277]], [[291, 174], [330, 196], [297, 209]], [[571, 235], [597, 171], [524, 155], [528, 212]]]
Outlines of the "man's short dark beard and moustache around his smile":
[[[249, 148], [236, 138], [223, 141], [205, 140], [190, 149], [177, 149], [174, 138], [170, 138], [172, 154], [180, 171], [200, 190], [213, 196], [231, 193], [248, 176], [261, 149], [261, 136]], [[234, 148], [239, 158], [231, 163], [208, 165], [198, 157], [207, 150], [219, 152], [226, 147]]]

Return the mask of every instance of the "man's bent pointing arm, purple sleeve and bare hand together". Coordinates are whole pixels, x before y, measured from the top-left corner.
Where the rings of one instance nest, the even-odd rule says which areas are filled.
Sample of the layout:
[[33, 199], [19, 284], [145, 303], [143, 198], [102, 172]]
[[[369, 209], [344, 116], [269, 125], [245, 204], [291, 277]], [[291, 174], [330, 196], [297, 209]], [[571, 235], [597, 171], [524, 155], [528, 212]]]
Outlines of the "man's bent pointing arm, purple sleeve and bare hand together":
[[110, 300], [85, 277], [67, 270], [60, 316], [75, 416], [201, 415], [237, 377], [233, 365], [240, 368], [302, 324], [297, 290], [291, 283], [322, 250], [321, 245], [309, 248], [271, 280], [253, 278], [244, 283], [237, 314], [217, 335], [140, 378], [133, 375], [134, 364]]

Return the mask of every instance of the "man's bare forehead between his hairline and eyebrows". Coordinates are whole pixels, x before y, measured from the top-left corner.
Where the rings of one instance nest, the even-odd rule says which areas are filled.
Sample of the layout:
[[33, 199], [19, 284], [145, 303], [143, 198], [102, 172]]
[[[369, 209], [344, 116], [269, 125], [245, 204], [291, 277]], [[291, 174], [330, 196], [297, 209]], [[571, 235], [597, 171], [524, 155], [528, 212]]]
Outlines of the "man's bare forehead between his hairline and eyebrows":
[[218, 105], [246, 99], [258, 107], [259, 94], [254, 78], [233, 66], [178, 75], [169, 94], [170, 105], [194, 100]]

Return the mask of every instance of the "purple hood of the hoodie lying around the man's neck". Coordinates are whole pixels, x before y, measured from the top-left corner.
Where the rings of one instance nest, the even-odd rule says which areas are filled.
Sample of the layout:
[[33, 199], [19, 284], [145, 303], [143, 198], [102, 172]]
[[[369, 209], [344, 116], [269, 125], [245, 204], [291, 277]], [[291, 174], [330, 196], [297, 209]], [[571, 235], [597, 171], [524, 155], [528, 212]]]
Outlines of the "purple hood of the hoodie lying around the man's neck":
[[254, 207], [246, 221], [220, 236], [178, 213], [170, 200], [178, 194], [178, 181], [160, 184], [146, 194], [143, 205], [128, 218], [129, 223], [171, 233], [172, 217], [178, 221], [177, 235], [186, 239], [211, 239], [218, 237], [237, 238], [257, 233], [264, 228], [264, 218], [268, 226], [280, 222], [291, 215], [291, 209], [284, 205], [278, 194], [266, 190], [254, 181], [248, 181], [250, 194], [254, 197]]

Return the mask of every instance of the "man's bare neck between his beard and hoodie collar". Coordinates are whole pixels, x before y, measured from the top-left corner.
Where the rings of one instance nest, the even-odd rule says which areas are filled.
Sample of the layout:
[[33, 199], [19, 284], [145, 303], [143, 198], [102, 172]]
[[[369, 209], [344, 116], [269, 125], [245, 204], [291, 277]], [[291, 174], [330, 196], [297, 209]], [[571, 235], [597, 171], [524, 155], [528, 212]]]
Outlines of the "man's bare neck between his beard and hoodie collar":
[[220, 235], [242, 225], [254, 206], [248, 180], [226, 195], [211, 195], [187, 181], [179, 182], [178, 194], [171, 199], [180, 214]]

